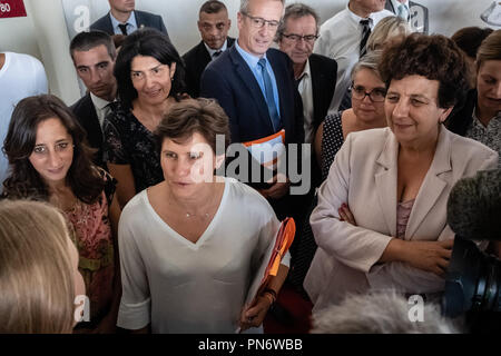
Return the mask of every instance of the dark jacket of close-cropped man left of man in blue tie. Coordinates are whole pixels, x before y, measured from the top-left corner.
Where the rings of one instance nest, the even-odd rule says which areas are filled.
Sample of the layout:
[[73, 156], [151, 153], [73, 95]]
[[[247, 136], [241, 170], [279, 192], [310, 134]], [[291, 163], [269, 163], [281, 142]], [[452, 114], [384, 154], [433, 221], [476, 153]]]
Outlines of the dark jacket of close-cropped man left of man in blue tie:
[[[235, 42], [234, 38], [227, 38], [227, 48]], [[204, 41], [191, 48], [183, 56], [186, 66], [185, 82], [187, 92], [191, 98], [198, 98], [200, 95], [200, 78], [205, 67], [212, 61], [210, 55], [205, 48]]]

